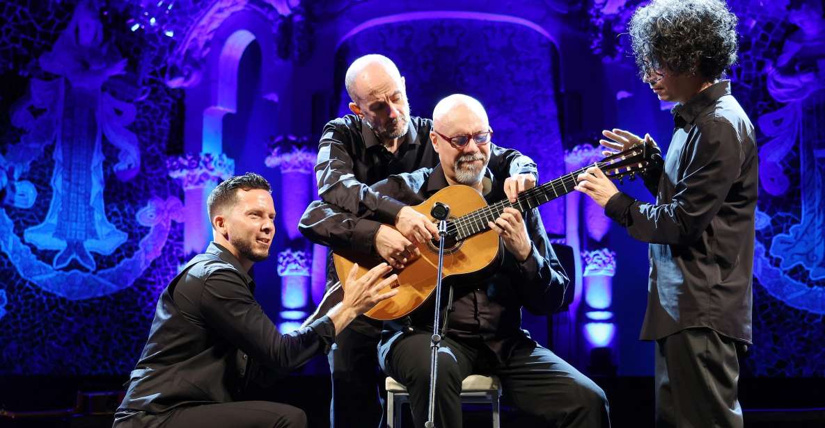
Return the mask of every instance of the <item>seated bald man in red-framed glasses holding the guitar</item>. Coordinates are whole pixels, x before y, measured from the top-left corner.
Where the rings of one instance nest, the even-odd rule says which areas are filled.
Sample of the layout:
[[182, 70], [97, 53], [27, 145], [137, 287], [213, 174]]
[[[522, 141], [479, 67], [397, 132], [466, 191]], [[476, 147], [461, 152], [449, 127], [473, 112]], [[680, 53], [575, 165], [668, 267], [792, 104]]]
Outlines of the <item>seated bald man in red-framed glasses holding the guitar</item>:
[[[479, 101], [450, 95], [436, 105], [433, 121], [431, 143], [440, 165], [392, 175], [373, 188], [411, 206], [454, 184], [474, 188], [488, 202], [505, 199], [502, 178], [487, 169], [493, 132]], [[464, 202], [446, 201], [454, 212], [460, 212]], [[489, 217], [493, 221], [484, 224], [489, 230], [482, 235], [495, 238], [492, 246], [497, 247], [499, 240], [490, 230], [503, 244], [494, 263], [475, 274], [446, 278], [446, 289], [452, 288], [453, 298], [438, 356], [436, 426], [461, 426], [461, 381], [470, 374], [497, 375], [513, 404], [546, 426], [610, 426], [601, 388], [521, 329], [522, 307], [535, 314], [550, 314], [561, 304], [568, 284], [538, 210], [525, 211], [522, 218], [519, 210], [503, 207], [499, 216]], [[318, 224], [323, 215], [323, 210], [310, 206], [302, 225]], [[479, 230], [472, 232], [464, 235]], [[450, 257], [464, 263], [483, 252], [460, 248], [469, 246], [469, 241], [453, 245]], [[427, 244], [421, 248], [422, 254], [427, 253]], [[400, 273], [410, 268], [413, 263]], [[415, 426], [427, 421], [433, 306], [432, 299], [423, 301], [412, 312], [384, 323], [379, 348], [384, 371], [409, 390]]]

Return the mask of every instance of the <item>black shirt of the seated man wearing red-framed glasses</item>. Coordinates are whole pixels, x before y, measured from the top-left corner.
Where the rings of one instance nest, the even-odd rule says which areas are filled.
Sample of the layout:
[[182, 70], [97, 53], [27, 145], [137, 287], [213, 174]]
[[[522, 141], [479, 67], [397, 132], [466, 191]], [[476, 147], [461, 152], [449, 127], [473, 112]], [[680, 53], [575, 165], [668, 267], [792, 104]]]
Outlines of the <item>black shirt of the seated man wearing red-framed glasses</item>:
[[[498, 202], [507, 198], [503, 182], [487, 171], [488, 193], [484, 199]], [[390, 176], [373, 188], [382, 194], [409, 205], [417, 205], [448, 185], [441, 170], [422, 168], [410, 174]], [[492, 350], [500, 361], [507, 360], [517, 341], [529, 337], [521, 329], [521, 308], [532, 314], [552, 314], [563, 302], [568, 278], [550, 246], [541, 216], [537, 209], [525, 213], [527, 235], [532, 241], [530, 255], [519, 262], [507, 249], [502, 250], [501, 266], [485, 279], [475, 282], [457, 277], [445, 281], [453, 286], [454, 307], [447, 316], [446, 335], [470, 342], [481, 342]], [[445, 294], [446, 295], [446, 294]], [[442, 300], [446, 305], [446, 299]], [[389, 350], [394, 337], [406, 325], [432, 329], [435, 299], [430, 299], [408, 318], [384, 324], [382, 350]]]

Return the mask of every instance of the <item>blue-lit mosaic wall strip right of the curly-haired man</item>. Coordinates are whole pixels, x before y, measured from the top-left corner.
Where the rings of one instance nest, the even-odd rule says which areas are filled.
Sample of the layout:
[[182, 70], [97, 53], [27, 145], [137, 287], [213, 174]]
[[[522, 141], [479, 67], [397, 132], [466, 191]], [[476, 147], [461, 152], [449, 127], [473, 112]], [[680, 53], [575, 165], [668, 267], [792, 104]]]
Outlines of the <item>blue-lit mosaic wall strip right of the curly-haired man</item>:
[[825, 14], [818, 1], [734, 2], [733, 92], [757, 126], [753, 341], [745, 370], [825, 375]]

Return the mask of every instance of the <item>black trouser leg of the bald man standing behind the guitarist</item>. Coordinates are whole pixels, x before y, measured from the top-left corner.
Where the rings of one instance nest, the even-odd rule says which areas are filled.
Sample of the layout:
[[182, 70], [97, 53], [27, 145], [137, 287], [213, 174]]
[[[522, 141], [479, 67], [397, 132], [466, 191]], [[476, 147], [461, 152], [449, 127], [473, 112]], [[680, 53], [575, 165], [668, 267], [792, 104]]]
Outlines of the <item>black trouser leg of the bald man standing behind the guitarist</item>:
[[331, 428], [384, 425], [384, 374], [378, 365], [379, 337], [345, 328], [327, 356], [332, 372]]

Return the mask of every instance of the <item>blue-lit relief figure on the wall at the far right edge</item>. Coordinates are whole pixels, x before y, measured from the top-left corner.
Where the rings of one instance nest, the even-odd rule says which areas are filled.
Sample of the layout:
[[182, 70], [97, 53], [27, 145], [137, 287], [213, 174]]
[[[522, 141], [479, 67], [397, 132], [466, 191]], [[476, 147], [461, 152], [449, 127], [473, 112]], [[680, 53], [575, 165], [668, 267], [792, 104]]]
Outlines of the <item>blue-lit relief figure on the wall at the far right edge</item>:
[[[825, 14], [814, 2], [803, 3], [788, 20], [798, 29], [785, 40], [767, 76], [771, 97], [785, 105], [762, 114], [758, 122], [768, 137], [760, 149], [760, 179], [766, 198], [786, 196], [791, 188], [782, 162], [791, 151], [799, 153], [801, 206], [798, 216], [784, 210], [766, 216], [761, 228], [777, 216], [798, 220], [775, 234], [769, 249], [767, 242], [757, 241], [754, 275], [788, 305], [825, 314], [825, 289], [813, 286], [825, 279]], [[790, 275], [794, 268], [804, 268], [807, 275]]]

